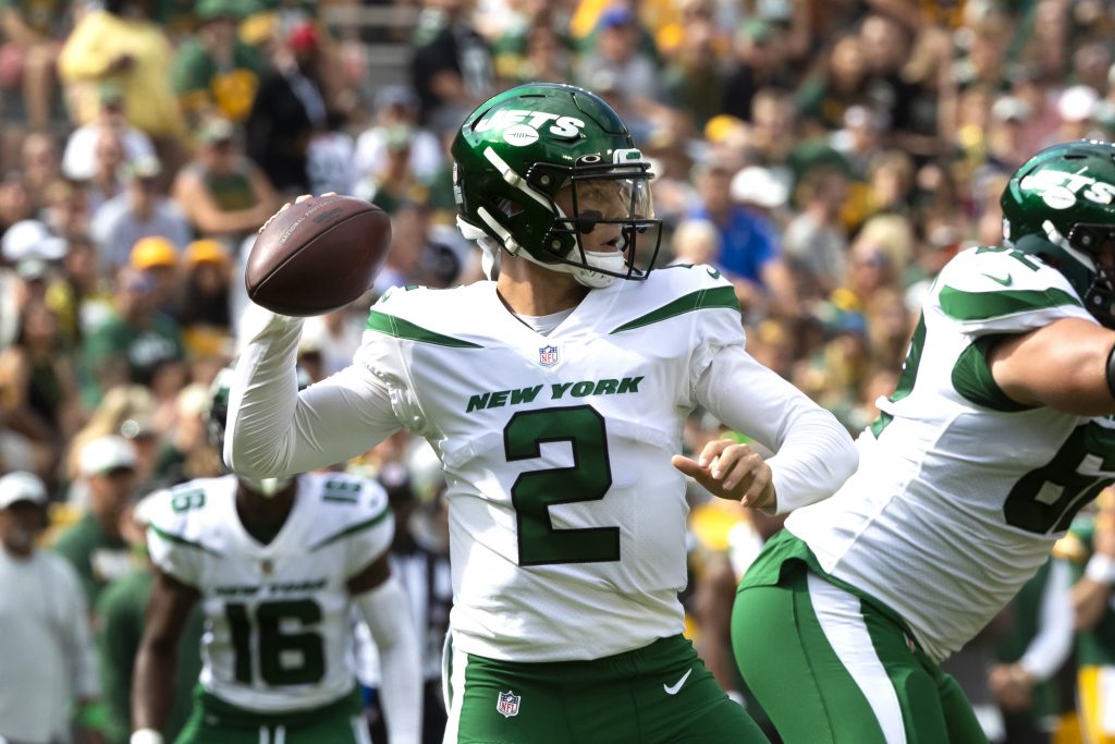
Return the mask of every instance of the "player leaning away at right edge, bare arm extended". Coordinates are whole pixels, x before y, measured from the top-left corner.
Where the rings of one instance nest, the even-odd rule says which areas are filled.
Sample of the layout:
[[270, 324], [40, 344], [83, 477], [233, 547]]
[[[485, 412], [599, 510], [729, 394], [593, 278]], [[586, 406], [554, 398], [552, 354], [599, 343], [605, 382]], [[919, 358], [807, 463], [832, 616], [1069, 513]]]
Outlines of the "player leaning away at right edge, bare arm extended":
[[985, 741], [938, 664], [1115, 477], [1113, 200], [1107, 143], [1012, 175], [1005, 244], [937, 278], [856, 474], [744, 577], [736, 657], [787, 744]]

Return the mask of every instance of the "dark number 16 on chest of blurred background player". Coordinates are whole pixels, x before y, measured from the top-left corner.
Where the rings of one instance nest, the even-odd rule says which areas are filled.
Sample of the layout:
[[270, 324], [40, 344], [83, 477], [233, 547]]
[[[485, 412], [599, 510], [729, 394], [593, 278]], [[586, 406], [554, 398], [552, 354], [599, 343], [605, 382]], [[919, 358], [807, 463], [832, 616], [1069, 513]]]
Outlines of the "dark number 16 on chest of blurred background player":
[[[326, 676], [326, 649], [321, 635], [312, 630], [283, 632], [283, 626], [299, 624], [303, 628], [321, 620], [321, 608], [312, 599], [263, 602], [255, 608], [255, 622], [249, 607], [230, 602], [224, 615], [232, 629], [236, 682], [252, 684], [252, 646], [259, 648], [260, 678], [272, 687], [312, 685]], [[259, 631], [252, 642], [252, 630]], [[289, 660], [295, 658], [291, 664]], [[288, 663], [284, 664], [284, 660]]]

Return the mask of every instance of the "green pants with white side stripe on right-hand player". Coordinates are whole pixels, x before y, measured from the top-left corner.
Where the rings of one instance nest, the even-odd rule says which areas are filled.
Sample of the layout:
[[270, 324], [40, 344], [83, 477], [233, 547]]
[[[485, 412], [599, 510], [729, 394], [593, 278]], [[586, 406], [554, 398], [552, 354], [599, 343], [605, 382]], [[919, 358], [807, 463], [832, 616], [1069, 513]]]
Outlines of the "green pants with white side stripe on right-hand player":
[[733, 646], [786, 744], [987, 742], [956, 680], [901, 626], [803, 562], [774, 586], [745, 581]]

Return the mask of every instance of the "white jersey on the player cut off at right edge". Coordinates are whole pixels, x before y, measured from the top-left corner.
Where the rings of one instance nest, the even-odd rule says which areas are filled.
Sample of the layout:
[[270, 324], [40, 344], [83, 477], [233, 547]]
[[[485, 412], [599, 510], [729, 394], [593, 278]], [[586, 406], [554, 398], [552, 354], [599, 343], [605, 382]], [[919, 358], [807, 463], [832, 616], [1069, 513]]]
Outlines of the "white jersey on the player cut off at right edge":
[[1061, 318], [1095, 322], [1037, 259], [957, 255], [929, 291], [894, 395], [859, 438], [859, 471], [786, 523], [825, 571], [898, 611], [935, 660], [991, 620], [1115, 475], [1111, 419], [1021, 406], [988, 368], [996, 337]]

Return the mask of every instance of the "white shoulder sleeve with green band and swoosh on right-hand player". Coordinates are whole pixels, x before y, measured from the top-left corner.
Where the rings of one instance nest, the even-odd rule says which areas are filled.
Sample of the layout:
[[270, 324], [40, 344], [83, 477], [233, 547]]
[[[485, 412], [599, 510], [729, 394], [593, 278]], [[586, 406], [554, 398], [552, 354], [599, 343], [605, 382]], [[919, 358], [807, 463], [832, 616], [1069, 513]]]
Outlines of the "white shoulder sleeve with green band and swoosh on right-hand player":
[[960, 253], [941, 272], [930, 298], [972, 337], [1024, 334], [1064, 318], [1095, 322], [1059, 271], [1009, 248]]

